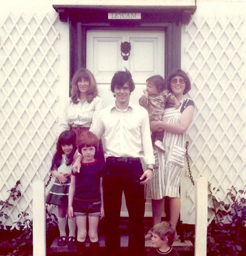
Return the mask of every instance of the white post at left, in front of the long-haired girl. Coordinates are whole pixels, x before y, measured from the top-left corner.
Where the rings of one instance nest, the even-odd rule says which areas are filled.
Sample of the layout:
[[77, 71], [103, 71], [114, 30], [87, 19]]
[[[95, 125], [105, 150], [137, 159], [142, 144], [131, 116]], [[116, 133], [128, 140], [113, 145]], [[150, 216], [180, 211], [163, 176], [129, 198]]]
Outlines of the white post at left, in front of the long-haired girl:
[[33, 256], [46, 256], [45, 185], [33, 182]]

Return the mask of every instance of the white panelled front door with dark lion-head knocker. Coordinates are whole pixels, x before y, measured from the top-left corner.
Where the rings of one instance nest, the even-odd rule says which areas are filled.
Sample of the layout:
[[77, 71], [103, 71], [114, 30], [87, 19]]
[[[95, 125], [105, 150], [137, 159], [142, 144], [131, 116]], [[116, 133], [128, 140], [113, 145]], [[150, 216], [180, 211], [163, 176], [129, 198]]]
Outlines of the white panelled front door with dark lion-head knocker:
[[[121, 56], [122, 42], [130, 42], [128, 60]], [[86, 66], [97, 80], [104, 106], [115, 101], [110, 91], [113, 74], [125, 68], [131, 72], [135, 83], [131, 101], [138, 104], [146, 79], [152, 75], [164, 76], [164, 47], [163, 31], [88, 30]], [[128, 216], [124, 196], [121, 216]], [[152, 216], [150, 199], [146, 201], [145, 216]]]

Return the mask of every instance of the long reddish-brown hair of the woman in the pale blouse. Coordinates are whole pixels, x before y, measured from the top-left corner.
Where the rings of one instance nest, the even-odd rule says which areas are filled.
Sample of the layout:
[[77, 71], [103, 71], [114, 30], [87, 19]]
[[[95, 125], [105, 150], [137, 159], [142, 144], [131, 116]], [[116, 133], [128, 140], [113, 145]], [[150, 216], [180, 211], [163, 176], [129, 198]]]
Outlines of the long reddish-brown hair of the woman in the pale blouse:
[[94, 75], [92, 75], [92, 73], [86, 68], [81, 68], [76, 71], [74, 76], [72, 76], [71, 81], [71, 99], [72, 103], [74, 104], [79, 103], [79, 88], [77, 87], [77, 82], [82, 78], [90, 82], [89, 88], [86, 91], [86, 99], [88, 103], [91, 103], [92, 100], [99, 94]]

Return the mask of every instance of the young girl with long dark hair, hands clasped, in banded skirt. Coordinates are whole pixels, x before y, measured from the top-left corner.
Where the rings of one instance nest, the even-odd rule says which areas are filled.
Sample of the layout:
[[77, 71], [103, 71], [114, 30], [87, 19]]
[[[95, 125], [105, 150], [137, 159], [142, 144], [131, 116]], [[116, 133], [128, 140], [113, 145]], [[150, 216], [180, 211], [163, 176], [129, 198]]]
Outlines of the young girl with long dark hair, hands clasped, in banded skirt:
[[51, 163], [51, 174], [55, 183], [46, 197], [46, 203], [58, 206], [58, 246], [72, 246], [75, 243], [76, 221], [68, 218], [69, 237], [66, 237], [68, 212], [68, 191], [71, 181], [72, 161], [76, 152], [76, 134], [72, 130], [61, 132], [56, 144], [56, 153]]

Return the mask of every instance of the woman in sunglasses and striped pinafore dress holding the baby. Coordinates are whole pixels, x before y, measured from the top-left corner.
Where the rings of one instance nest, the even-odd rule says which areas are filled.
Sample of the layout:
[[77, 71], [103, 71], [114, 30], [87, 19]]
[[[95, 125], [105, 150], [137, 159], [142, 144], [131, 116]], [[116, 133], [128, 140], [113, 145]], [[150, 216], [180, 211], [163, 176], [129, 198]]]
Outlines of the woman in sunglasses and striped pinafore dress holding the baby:
[[[164, 198], [167, 199], [168, 221], [177, 225], [180, 216], [180, 178], [185, 165], [186, 132], [194, 114], [194, 102], [185, 97], [191, 89], [190, 79], [183, 70], [174, 70], [167, 78], [167, 89], [180, 101], [180, 107], [165, 106], [162, 121], [152, 121], [151, 130], [164, 130], [166, 152], [156, 151], [158, 163], [151, 183], [153, 224], [160, 222]], [[146, 237], [147, 239], [147, 237]]]

